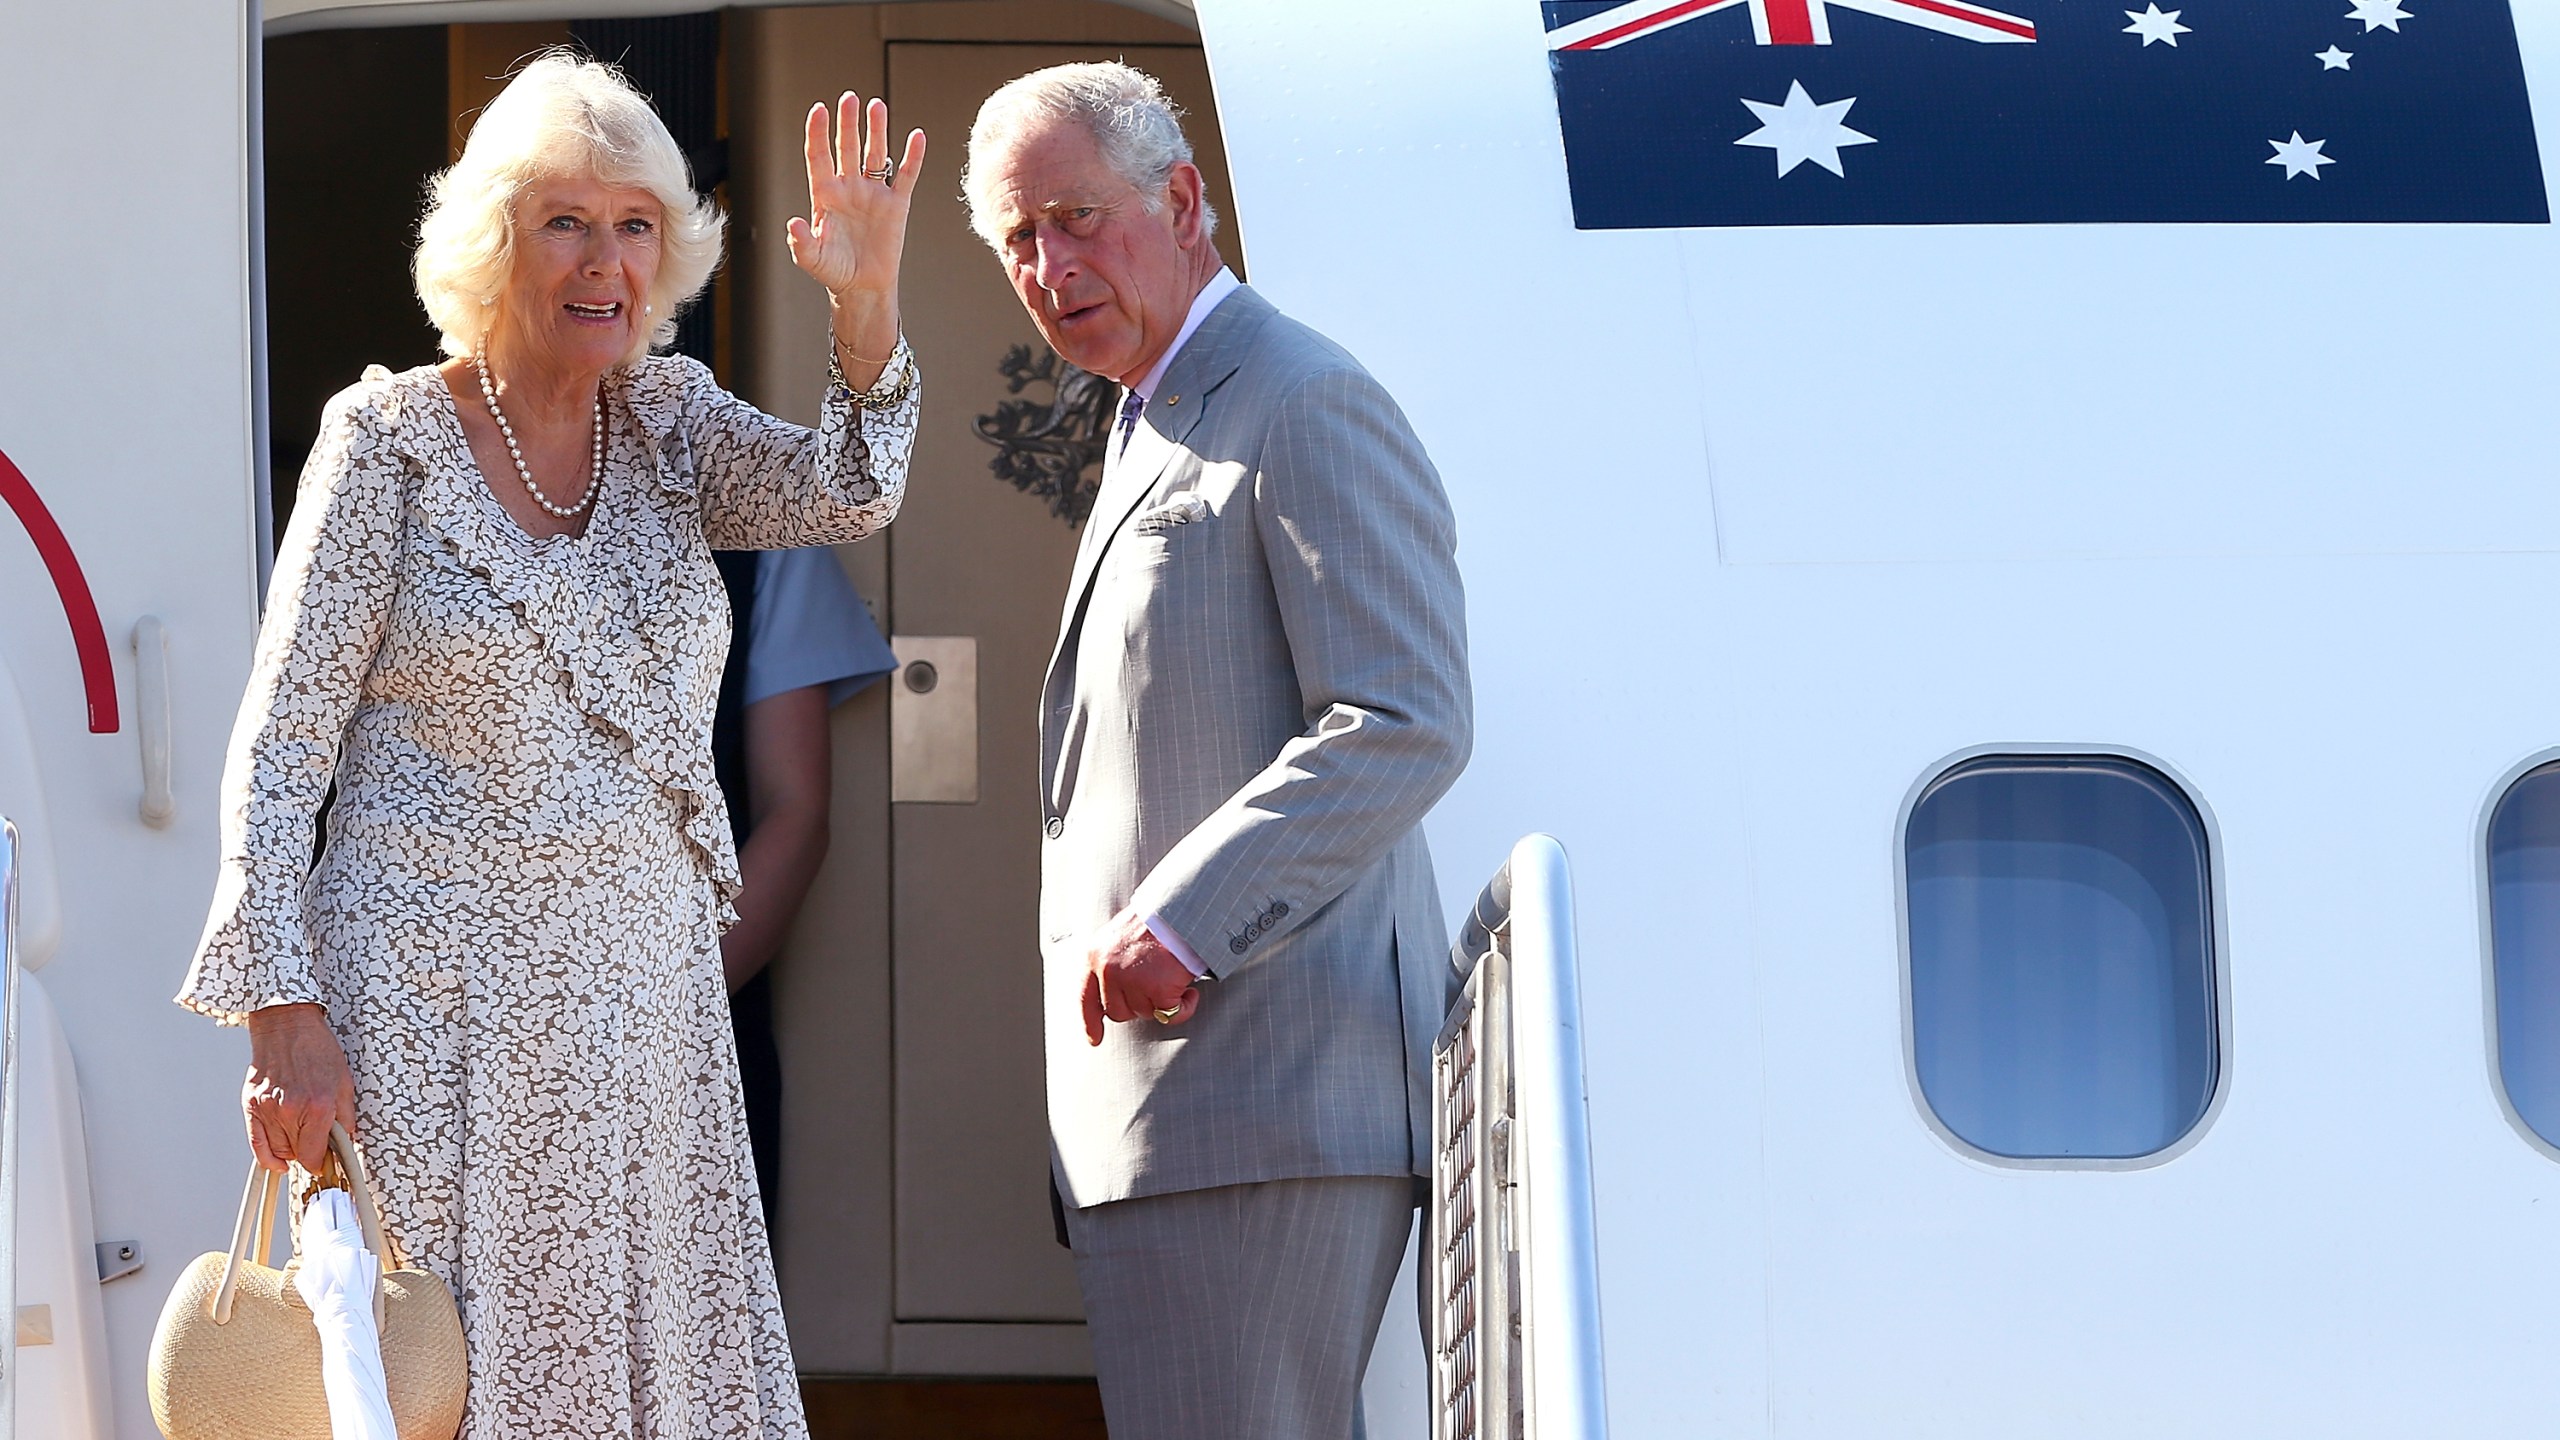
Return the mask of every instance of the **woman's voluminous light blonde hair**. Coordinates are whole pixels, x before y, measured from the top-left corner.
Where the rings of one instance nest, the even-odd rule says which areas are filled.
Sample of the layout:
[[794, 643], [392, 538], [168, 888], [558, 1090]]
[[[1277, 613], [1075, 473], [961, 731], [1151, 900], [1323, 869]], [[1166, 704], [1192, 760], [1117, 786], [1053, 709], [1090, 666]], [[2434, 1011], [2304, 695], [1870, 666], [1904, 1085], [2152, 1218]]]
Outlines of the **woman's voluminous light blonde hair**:
[[463, 159], [435, 177], [428, 218], [417, 225], [410, 274], [445, 354], [476, 354], [489, 338], [515, 266], [515, 205], [545, 177], [594, 177], [658, 197], [666, 225], [648, 295], [658, 323], [622, 364], [671, 343], [676, 313], [719, 269], [727, 218], [707, 195], [694, 195], [684, 151], [620, 69], [550, 49], [481, 110]]

